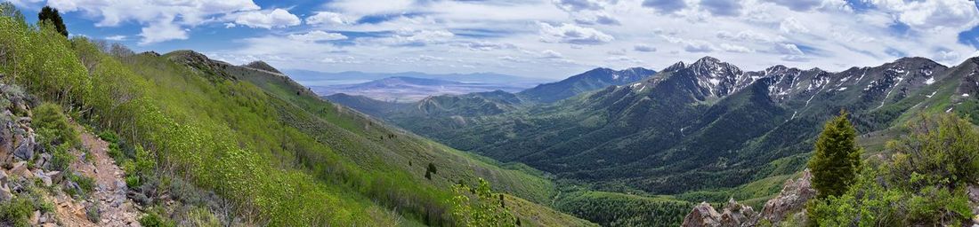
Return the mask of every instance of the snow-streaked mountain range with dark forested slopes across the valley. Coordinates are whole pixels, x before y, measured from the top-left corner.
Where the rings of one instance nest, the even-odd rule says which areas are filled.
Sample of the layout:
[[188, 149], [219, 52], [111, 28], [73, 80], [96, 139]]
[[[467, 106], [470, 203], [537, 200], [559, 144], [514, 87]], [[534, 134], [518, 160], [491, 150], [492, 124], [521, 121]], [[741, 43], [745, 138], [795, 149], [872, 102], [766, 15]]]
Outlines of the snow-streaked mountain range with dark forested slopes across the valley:
[[531, 90], [442, 95], [364, 112], [458, 149], [598, 189], [680, 195], [802, 170], [821, 123], [841, 110], [851, 112], [864, 137], [886, 134], [919, 113], [977, 116], [977, 64], [979, 57], [954, 67], [904, 57], [841, 72], [782, 65], [743, 71], [703, 57], [587, 92], [565, 86], [552, 96]]

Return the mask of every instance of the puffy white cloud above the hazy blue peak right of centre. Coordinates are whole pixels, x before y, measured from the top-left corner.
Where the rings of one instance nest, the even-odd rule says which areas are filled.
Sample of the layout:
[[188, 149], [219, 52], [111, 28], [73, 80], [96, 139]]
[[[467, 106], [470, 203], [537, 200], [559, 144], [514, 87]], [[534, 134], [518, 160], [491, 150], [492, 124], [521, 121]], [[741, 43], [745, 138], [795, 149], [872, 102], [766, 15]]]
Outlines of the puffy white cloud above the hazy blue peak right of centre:
[[571, 23], [562, 23], [560, 26], [553, 26], [546, 22], [539, 22], [538, 24], [540, 25], [540, 40], [543, 42], [598, 45], [615, 40], [611, 35], [595, 28]]

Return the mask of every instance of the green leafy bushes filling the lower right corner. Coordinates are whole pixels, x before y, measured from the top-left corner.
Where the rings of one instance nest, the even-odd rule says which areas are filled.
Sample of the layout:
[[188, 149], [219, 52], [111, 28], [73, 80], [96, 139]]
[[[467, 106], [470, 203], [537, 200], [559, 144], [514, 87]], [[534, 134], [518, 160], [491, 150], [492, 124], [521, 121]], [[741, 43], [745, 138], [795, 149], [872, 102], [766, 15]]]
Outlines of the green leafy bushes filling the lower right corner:
[[840, 196], [811, 201], [817, 226], [959, 226], [972, 217], [967, 183], [975, 182], [975, 130], [955, 115], [924, 117], [889, 142], [893, 158], [864, 167]]

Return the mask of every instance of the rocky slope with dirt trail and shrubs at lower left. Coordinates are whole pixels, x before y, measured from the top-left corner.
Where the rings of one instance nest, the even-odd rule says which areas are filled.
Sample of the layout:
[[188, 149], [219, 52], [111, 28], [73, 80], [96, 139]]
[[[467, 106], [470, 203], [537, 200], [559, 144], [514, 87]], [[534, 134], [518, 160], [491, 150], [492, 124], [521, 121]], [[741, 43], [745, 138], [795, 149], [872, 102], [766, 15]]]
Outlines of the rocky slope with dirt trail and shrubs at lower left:
[[[50, 139], [32, 128], [37, 99], [13, 85], [0, 85], [0, 96], [7, 105], [0, 108], [0, 202], [14, 206], [0, 224], [139, 226], [141, 207], [127, 199], [123, 172], [106, 154], [105, 141], [83, 132], [80, 147], [66, 154], [50, 150]], [[19, 201], [27, 206], [16, 207]], [[25, 220], [11, 211], [18, 208], [29, 211]]]

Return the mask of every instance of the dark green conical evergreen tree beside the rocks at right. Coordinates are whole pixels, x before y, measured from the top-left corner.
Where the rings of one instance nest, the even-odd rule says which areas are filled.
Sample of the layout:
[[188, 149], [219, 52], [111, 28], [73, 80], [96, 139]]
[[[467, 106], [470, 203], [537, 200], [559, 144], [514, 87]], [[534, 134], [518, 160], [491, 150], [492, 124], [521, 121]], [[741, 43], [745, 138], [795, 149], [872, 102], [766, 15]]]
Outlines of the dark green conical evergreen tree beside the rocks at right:
[[862, 148], [857, 146], [857, 130], [847, 120], [847, 112], [826, 123], [816, 140], [816, 154], [809, 161], [813, 187], [819, 198], [840, 196], [857, 178]]

